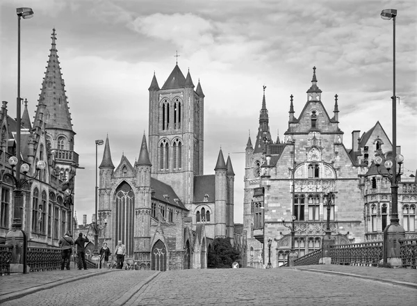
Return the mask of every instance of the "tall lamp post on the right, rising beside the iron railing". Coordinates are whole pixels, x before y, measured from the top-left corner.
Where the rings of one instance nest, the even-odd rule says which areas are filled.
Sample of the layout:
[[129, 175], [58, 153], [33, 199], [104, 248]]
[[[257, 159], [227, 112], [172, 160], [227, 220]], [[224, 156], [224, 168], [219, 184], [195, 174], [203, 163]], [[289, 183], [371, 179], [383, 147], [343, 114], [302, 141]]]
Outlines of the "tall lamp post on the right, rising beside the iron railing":
[[[392, 172], [391, 172], [391, 222], [384, 229], [384, 265], [389, 263], [391, 266], [402, 266], [402, 260], [400, 256], [400, 243], [399, 239], [405, 237], [404, 227], [399, 223], [398, 219], [398, 178], [400, 175], [397, 174], [397, 163], [402, 163], [398, 161], [397, 155], [397, 110], [395, 102], [397, 97], [395, 96], [395, 17], [397, 16], [397, 10], [395, 9], [386, 9], [382, 10], [381, 18], [390, 20], [393, 19], [393, 96], [392, 99], [392, 108], [393, 108], [393, 150], [392, 150]], [[401, 158], [400, 158], [401, 159]], [[403, 158], [402, 158], [403, 159]]]

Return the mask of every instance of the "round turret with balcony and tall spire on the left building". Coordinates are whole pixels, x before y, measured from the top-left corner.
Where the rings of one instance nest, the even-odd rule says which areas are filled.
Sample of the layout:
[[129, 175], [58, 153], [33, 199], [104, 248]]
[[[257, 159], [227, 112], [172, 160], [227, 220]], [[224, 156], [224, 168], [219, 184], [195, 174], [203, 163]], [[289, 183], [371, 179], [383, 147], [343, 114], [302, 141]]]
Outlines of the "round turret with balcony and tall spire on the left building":
[[[55, 29], [52, 29], [51, 39], [52, 45], [49, 50], [47, 71], [42, 82], [34, 126], [37, 122], [44, 122], [47, 131], [47, 145], [51, 150], [55, 150], [55, 170], [59, 172], [60, 179], [67, 181], [75, 175], [75, 170], [79, 166], [79, 155], [74, 152], [76, 133], [72, 129], [70, 107], [65, 95], [65, 83], [60, 72]], [[41, 106], [45, 108], [44, 113], [41, 111]]]

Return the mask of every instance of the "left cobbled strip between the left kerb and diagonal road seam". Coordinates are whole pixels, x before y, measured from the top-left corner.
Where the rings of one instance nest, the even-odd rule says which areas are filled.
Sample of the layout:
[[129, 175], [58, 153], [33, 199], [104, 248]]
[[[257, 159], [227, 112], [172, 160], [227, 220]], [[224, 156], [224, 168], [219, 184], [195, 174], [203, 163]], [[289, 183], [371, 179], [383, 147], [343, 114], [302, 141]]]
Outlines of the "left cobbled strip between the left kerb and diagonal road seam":
[[[33, 273], [33, 275], [35, 274]], [[156, 274], [156, 271], [113, 270], [110, 273], [95, 273], [88, 278], [60, 284], [50, 289], [28, 294], [22, 298], [8, 300], [1, 305], [123, 305], [124, 301], [140, 288], [134, 289], [134, 287], [141, 286], [144, 280], [154, 274]], [[0, 280], [3, 282], [3, 278]]]

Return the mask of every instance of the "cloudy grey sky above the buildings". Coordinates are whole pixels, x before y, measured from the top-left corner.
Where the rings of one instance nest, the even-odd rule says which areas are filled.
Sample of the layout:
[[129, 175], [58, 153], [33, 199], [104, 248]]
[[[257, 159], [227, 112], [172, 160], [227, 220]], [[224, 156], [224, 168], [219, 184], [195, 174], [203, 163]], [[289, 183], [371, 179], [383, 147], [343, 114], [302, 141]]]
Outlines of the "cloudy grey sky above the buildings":
[[[117, 167], [124, 154], [138, 158], [148, 131], [147, 88], [159, 86], [178, 65], [200, 80], [204, 99], [204, 174], [214, 174], [218, 152], [230, 154], [235, 177], [235, 223], [243, 222], [243, 177], [248, 135], [259, 126], [263, 88], [272, 138], [284, 139], [290, 95], [295, 116], [306, 103], [313, 66], [328, 113], [338, 95], [343, 143], [352, 131], [379, 120], [391, 138], [395, 8], [397, 144], [405, 173], [417, 168], [417, 2], [248, 0], [2, 0], [0, 98], [15, 118], [17, 16], [21, 22], [21, 96], [35, 105], [46, 71], [52, 29], [72, 113], [79, 164], [75, 210], [79, 223], [95, 211], [95, 140], [106, 139]], [[391, 139], [392, 140], [392, 139]], [[104, 146], [98, 147], [101, 163]]]

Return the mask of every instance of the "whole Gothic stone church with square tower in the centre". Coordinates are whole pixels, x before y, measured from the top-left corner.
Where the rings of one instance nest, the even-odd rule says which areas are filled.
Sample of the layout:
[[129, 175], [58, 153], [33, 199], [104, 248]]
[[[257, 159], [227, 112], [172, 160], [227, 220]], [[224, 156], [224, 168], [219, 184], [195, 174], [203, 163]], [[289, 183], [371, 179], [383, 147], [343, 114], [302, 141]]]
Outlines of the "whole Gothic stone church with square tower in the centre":
[[[234, 170], [222, 150], [204, 175], [204, 93], [175, 65], [149, 86], [149, 150], [117, 167], [108, 138], [99, 166], [99, 242], [126, 245], [142, 269], [206, 268], [215, 237], [234, 237]], [[213, 163], [214, 164], [214, 163]], [[104, 223], [104, 220], [107, 223]]]

